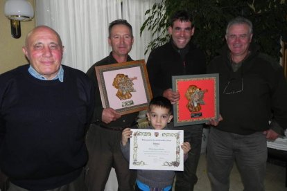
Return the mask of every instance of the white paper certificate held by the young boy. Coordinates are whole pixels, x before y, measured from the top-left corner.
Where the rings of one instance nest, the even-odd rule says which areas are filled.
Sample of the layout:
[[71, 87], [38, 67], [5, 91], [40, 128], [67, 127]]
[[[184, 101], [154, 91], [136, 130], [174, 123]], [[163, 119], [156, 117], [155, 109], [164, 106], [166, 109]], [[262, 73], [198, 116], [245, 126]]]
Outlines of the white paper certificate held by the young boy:
[[130, 169], [183, 171], [183, 130], [131, 130]]

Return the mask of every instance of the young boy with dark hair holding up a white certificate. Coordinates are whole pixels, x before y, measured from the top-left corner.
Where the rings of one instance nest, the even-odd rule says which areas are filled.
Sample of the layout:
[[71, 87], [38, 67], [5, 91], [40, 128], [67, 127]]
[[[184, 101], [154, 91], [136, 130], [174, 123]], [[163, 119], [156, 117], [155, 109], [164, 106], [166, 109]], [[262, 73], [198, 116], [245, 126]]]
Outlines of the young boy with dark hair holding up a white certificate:
[[[162, 97], [153, 98], [150, 101], [148, 109], [148, 120], [151, 127], [149, 129], [166, 130], [167, 124], [173, 118], [171, 102]], [[130, 128], [123, 130], [121, 136], [121, 152], [123, 156], [129, 161], [130, 157], [130, 143], [128, 139], [132, 137]], [[187, 153], [191, 149], [189, 142], [184, 142], [181, 145], [184, 151], [184, 159], [187, 158]], [[134, 191], [171, 191], [175, 172], [172, 170], [137, 170], [137, 181]]]

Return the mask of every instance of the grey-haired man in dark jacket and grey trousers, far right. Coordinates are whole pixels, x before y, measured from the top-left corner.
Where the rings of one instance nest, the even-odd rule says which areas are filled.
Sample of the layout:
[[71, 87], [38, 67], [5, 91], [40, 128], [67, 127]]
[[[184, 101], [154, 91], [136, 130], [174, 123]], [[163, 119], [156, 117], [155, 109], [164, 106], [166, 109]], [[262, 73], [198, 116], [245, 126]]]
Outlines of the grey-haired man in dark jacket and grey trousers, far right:
[[208, 73], [219, 73], [223, 121], [211, 128], [207, 145], [212, 190], [229, 190], [234, 160], [244, 190], [264, 190], [266, 139], [284, 135], [287, 127], [287, 84], [281, 66], [259, 53], [252, 41], [252, 23], [243, 17], [229, 21], [227, 45]]

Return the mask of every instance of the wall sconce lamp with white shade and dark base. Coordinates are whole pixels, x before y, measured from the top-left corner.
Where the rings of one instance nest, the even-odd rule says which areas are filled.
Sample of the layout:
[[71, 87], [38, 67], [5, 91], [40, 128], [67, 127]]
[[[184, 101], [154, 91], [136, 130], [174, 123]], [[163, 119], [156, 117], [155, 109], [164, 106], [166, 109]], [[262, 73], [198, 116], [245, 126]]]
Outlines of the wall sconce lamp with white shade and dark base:
[[31, 21], [34, 17], [33, 6], [27, 0], [6, 0], [4, 13], [10, 19], [11, 35], [15, 39], [21, 37], [20, 21]]

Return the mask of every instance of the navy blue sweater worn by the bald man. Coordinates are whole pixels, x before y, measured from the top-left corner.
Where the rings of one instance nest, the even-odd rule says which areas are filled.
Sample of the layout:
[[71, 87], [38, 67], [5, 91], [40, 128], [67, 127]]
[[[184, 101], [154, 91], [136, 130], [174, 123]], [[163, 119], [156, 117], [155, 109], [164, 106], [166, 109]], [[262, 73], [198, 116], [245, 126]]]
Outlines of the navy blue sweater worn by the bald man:
[[48, 190], [76, 179], [87, 162], [94, 86], [68, 66], [64, 82], [38, 80], [28, 66], [0, 75], [0, 168], [21, 188]]

